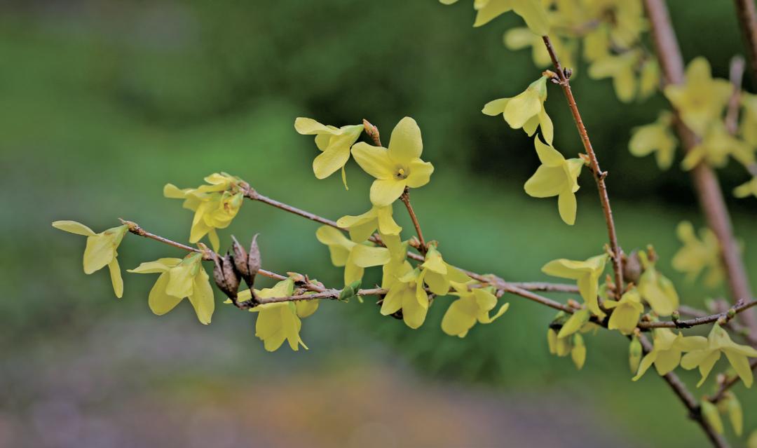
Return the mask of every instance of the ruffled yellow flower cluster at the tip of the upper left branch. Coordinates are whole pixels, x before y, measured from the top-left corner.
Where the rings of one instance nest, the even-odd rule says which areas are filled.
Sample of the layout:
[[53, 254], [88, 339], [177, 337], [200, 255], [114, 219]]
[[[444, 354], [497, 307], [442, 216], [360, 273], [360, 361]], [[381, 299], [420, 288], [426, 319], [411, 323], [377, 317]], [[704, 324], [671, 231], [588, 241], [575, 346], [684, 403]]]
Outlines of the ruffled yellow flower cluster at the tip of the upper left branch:
[[163, 195], [166, 198], [183, 199], [185, 209], [195, 212], [189, 242], [196, 243], [208, 235], [213, 250], [218, 250], [220, 240], [216, 229], [226, 229], [239, 212], [244, 201], [240, 189], [241, 180], [226, 173], [213, 173], [205, 179], [209, 185], [198, 188], [179, 189], [166, 184]]

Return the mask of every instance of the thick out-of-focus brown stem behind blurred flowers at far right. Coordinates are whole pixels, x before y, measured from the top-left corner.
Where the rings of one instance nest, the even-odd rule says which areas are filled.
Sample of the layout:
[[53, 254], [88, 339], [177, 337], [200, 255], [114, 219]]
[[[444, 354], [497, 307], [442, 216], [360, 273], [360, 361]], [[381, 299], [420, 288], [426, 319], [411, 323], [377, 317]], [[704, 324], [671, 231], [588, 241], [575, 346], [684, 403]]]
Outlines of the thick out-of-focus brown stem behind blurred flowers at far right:
[[[668, 8], [664, 0], [644, 0], [644, 4], [646, 15], [652, 26], [657, 58], [662, 66], [665, 83], [681, 84], [684, 82], [684, 59], [671, 25]], [[676, 122], [678, 136], [683, 142], [684, 150], [690, 151], [696, 145], [698, 138], [680, 119]], [[749, 299], [752, 297], [749, 278], [746, 276], [740, 250], [733, 235], [731, 216], [725, 206], [718, 178], [706, 163], [694, 166], [691, 176], [708, 226], [718, 238], [733, 301]], [[742, 319], [752, 332], [757, 333], [757, 319], [754, 313], [743, 313]]]

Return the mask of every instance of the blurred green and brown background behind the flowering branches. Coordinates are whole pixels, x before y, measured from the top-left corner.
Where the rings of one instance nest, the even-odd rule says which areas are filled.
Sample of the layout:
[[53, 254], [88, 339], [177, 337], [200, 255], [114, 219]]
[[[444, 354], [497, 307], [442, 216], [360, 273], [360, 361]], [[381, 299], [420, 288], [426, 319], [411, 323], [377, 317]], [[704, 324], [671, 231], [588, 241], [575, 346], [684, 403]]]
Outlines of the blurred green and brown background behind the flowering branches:
[[[732, 3], [669, 4], [687, 60], [705, 55], [727, 76], [743, 52]], [[556, 201], [522, 191], [538, 165], [528, 138], [481, 114], [540, 70], [530, 51], [503, 48], [517, 17], [473, 29], [473, 14], [469, 2], [435, 0], [2, 2], [0, 446], [701, 446], [656, 375], [630, 381], [628, 341], [587, 338], [575, 372], [548, 353], [553, 313], [518, 297], [462, 340], [439, 328], [441, 303], [416, 331], [379, 316], [370, 299], [322, 303], [304, 320], [310, 350], [266, 353], [254, 316], [230, 306], [219, 303], [209, 326], [188, 303], [151, 314], [151, 275], [125, 273], [115, 299], [107, 273], [83, 274], [83, 238], [51, 228], [76, 219], [99, 231], [120, 216], [186, 241], [191, 213], [162, 187], [220, 170], [323, 216], [362, 213], [371, 179], [350, 161], [349, 191], [338, 176], [317, 181], [316, 148], [294, 118], [367, 118], [388, 139], [409, 115], [436, 167], [413, 202], [451, 263], [537, 281], [548, 260], [599, 253], [606, 232], [588, 173], [577, 224], [565, 226]], [[664, 100], [620, 104], [609, 80], [577, 69], [622, 246], [654, 244], [684, 303], [721, 297], [670, 266], [676, 224], [702, 223], [686, 173], [628, 154], [630, 129], [653, 121]], [[562, 95], [554, 86], [549, 95], [556, 147], [576, 154]], [[721, 175], [725, 191], [746, 180], [736, 166]], [[757, 201], [729, 202], [754, 279]], [[247, 203], [222, 242], [260, 232], [267, 269], [338, 284], [315, 229]], [[127, 236], [119, 259], [126, 269], [177, 255]], [[696, 375], [682, 375], [693, 386]], [[736, 390], [748, 433], [757, 398]]]

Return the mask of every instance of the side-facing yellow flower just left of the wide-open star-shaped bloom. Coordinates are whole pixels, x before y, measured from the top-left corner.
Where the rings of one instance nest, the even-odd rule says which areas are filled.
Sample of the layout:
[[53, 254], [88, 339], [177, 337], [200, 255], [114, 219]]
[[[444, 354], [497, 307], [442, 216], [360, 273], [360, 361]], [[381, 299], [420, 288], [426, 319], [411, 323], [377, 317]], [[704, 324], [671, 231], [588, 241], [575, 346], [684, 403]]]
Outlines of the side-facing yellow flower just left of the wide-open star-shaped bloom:
[[347, 188], [344, 164], [350, 159], [350, 148], [363, 133], [363, 125], [324, 126], [312, 118], [298, 117], [294, 129], [302, 135], [316, 135], [316, 146], [321, 154], [313, 160], [313, 173], [318, 179], [326, 179], [341, 169], [341, 180]]

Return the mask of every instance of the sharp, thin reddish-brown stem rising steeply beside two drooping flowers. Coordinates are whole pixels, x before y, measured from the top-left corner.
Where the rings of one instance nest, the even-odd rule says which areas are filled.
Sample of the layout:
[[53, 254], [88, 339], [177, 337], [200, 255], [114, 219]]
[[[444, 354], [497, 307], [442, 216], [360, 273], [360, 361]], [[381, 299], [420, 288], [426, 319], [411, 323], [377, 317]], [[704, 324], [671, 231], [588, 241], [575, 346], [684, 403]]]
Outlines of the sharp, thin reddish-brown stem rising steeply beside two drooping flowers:
[[615, 220], [612, 218], [612, 207], [610, 207], [610, 199], [607, 194], [607, 186], [605, 185], [606, 171], [600, 169], [600, 162], [597, 160], [597, 154], [591, 146], [589, 134], [584, 126], [584, 120], [581, 120], [581, 113], [578, 112], [578, 105], [575, 104], [575, 98], [570, 87], [570, 81], [568, 76], [565, 75], [560, 64], [559, 58], [555, 52], [555, 48], [552, 45], [550, 36], [542, 36], [544, 40], [544, 46], [547, 47], [547, 52], [550, 54], [552, 64], [557, 72], [557, 79], [559, 85], [562, 86], [562, 92], [565, 93], [565, 99], [568, 100], [568, 106], [570, 107], [575, 126], [578, 128], [578, 134], [581, 135], [581, 142], [584, 144], [584, 150], [589, 157], [589, 163], [591, 166], [591, 172], [594, 175], [594, 180], [597, 181], [597, 189], [600, 193], [600, 202], [602, 203], [602, 210], [605, 215], [605, 222], [607, 224], [607, 235], [609, 236], [610, 250], [612, 250], [612, 270], [615, 272], [615, 297], [618, 300], [623, 294], [623, 266], [621, 262], [622, 250], [618, 245], [618, 235], [615, 232]]

